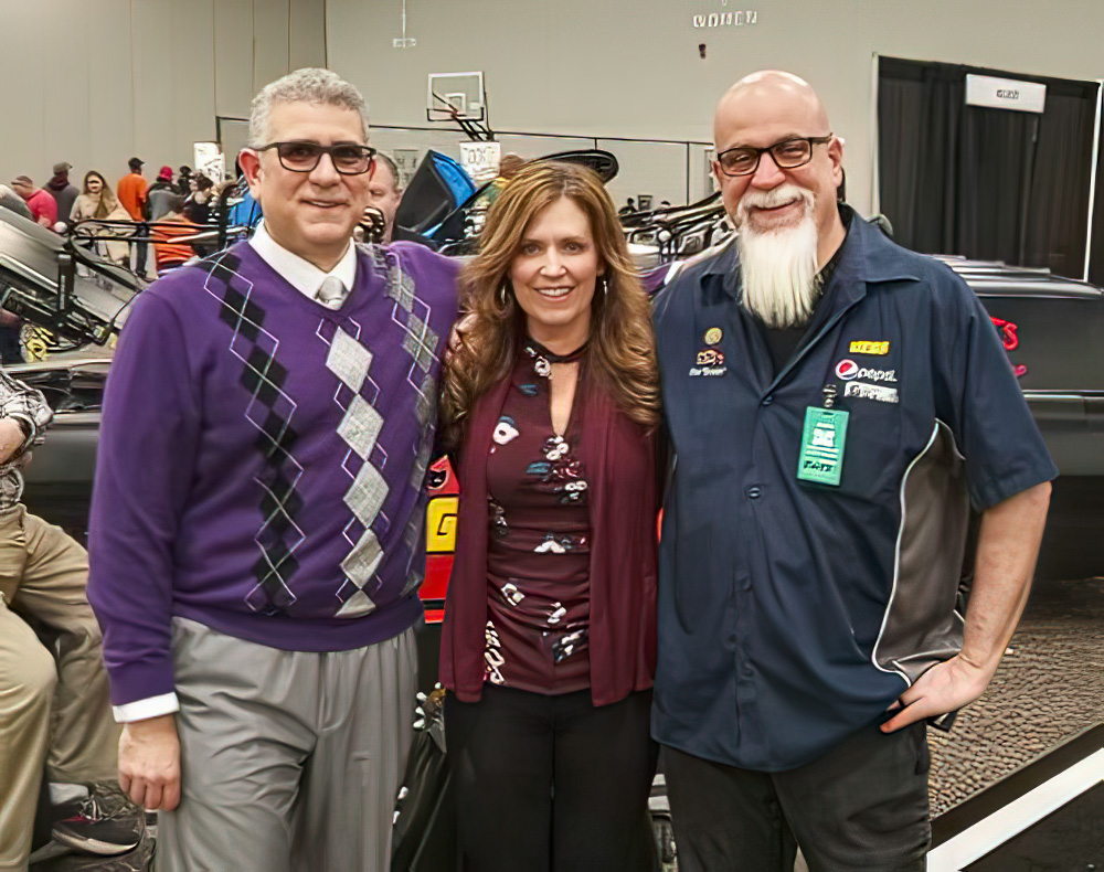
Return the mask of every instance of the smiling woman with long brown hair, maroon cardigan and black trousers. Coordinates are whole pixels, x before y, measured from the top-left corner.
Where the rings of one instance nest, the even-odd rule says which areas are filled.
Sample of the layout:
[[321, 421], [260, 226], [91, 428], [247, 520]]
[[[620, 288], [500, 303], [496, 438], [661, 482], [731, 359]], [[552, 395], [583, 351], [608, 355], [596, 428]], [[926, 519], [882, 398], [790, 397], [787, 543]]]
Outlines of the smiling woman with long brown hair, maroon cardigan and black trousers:
[[465, 869], [648, 870], [659, 377], [598, 178], [522, 168], [463, 289], [440, 674]]

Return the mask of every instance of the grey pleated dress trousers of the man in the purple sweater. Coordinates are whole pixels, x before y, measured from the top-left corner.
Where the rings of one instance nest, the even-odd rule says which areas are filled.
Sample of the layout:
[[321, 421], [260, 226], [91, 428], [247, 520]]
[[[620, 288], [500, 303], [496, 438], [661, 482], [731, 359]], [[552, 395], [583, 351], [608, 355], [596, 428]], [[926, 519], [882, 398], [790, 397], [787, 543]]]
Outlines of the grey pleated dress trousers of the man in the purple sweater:
[[414, 630], [310, 653], [174, 618], [172, 655], [182, 795], [158, 815], [158, 872], [386, 872]]

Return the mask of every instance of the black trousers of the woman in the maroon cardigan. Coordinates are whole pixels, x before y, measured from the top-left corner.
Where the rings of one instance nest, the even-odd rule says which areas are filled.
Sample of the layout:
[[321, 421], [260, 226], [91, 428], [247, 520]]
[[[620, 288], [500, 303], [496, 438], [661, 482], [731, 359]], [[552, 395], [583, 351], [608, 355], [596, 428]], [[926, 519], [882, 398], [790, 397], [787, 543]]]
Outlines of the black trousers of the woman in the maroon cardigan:
[[465, 872], [651, 872], [651, 691], [445, 702]]

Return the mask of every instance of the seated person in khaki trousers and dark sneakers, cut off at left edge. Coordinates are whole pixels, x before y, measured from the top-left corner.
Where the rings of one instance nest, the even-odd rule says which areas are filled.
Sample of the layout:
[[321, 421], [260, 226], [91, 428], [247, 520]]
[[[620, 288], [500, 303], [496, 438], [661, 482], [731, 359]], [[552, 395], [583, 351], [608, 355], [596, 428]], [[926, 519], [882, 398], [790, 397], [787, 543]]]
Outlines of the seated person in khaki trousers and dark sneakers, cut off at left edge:
[[[88, 606], [88, 556], [61, 528], [29, 514], [20, 467], [52, 413], [39, 391], [0, 371], [0, 869], [25, 870], [43, 764], [54, 839], [89, 853], [138, 843], [105, 817], [89, 786], [110, 781], [119, 727], [108, 704], [99, 625]], [[43, 646], [24, 618], [51, 635]]]

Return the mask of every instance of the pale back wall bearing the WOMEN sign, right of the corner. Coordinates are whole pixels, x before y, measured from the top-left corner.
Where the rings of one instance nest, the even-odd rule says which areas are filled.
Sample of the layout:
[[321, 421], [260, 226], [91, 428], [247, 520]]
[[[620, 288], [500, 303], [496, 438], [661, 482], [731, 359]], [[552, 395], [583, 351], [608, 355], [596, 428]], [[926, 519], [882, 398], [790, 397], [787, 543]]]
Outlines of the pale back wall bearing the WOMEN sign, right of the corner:
[[[781, 67], [820, 92], [847, 140], [848, 193], [860, 209], [870, 200], [875, 52], [1104, 77], [1100, 0], [407, 0], [417, 45], [396, 50], [401, 8], [327, 0], [329, 65], [364, 91], [376, 123], [424, 125], [428, 73], [482, 70], [499, 129], [708, 140], [724, 88]], [[757, 23], [692, 25], [694, 14], [736, 10], [755, 10]]]

